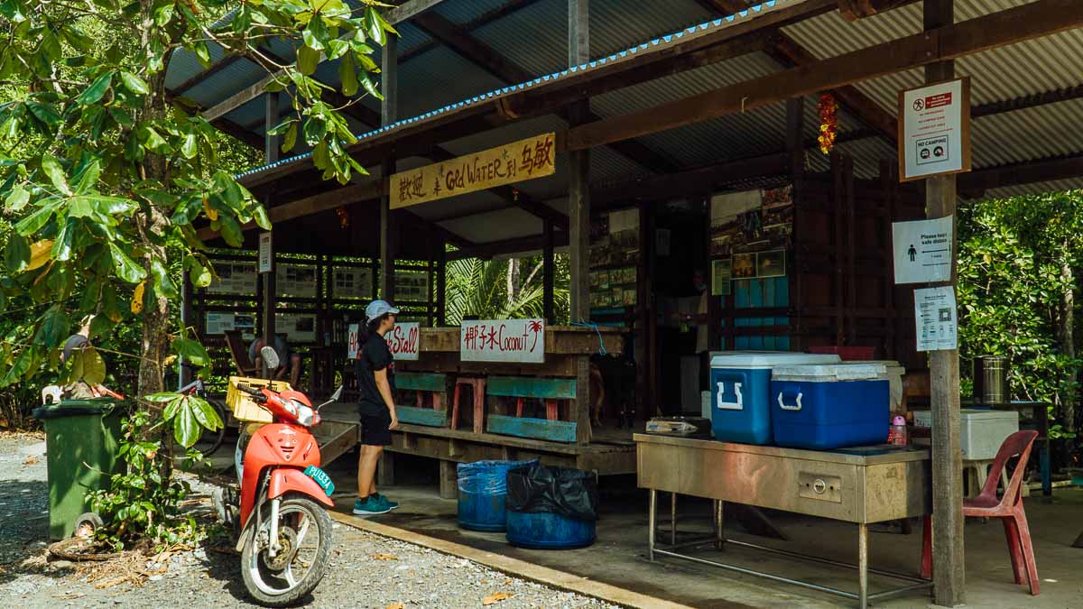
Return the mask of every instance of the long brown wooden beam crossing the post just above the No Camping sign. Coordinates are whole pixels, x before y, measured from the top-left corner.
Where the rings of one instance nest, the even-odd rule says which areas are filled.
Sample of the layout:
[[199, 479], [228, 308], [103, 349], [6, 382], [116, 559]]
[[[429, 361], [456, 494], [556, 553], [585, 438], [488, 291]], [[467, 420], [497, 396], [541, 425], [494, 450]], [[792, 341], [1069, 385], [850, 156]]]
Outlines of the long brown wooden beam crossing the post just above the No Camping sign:
[[558, 134], [558, 144], [563, 143], [565, 150], [591, 148], [1080, 26], [1083, 26], [1083, 2], [1036, 0], [812, 65], [573, 127], [563, 133], [563, 142]]

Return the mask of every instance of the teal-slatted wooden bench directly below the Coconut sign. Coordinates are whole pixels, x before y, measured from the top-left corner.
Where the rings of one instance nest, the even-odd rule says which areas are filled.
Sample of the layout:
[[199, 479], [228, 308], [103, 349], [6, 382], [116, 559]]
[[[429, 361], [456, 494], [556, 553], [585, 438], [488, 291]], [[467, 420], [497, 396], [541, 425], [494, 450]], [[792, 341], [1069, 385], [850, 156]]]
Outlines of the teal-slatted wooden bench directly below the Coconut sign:
[[[516, 416], [491, 414], [490, 433], [535, 438], [556, 442], [574, 442], [576, 424], [560, 420], [560, 406], [564, 405], [564, 418], [570, 418], [571, 401], [575, 400], [574, 378], [538, 378], [533, 376], [491, 376], [487, 391], [490, 396], [516, 399]], [[527, 399], [545, 403], [546, 418], [524, 417], [523, 409]]]

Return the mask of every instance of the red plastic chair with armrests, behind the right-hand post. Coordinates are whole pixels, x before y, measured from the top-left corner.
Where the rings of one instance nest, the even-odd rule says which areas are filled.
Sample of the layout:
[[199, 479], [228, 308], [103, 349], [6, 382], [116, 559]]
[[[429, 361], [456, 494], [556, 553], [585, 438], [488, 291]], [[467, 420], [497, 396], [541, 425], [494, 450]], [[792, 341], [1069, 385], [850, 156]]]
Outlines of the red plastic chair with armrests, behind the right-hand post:
[[[963, 500], [963, 516], [1000, 518], [1004, 522], [1004, 535], [1008, 541], [1008, 554], [1012, 556], [1012, 571], [1017, 584], [1030, 583], [1030, 594], [1038, 596], [1038, 565], [1034, 562], [1034, 546], [1030, 540], [1030, 528], [1027, 526], [1027, 513], [1022, 508], [1020, 488], [1027, 471], [1027, 459], [1030, 449], [1034, 445], [1038, 431], [1016, 431], [1004, 439], [996, 458], [986, 478], [981, 493], [973, 498]], [[996, 485], [1001, 480], [1001, 470], [1009, 458], [1019, 455], [1015, 472], [1004, 490], [1004, 496], [996, 497]], [[922, 544], [922, 576], [932, 575], [932, 526], [930, 518], [925, 517], [924, 541]]]

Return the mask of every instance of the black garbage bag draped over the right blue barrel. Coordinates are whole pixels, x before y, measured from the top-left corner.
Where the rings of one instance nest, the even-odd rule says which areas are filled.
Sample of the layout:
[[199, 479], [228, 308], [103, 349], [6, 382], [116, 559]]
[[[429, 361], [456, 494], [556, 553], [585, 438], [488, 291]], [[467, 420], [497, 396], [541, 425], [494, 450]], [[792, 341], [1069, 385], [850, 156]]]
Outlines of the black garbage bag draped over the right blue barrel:
[[598, 479], [589, 471], [533, 465], [508, 471], [510, 511], [550, 513], [598, 520]]

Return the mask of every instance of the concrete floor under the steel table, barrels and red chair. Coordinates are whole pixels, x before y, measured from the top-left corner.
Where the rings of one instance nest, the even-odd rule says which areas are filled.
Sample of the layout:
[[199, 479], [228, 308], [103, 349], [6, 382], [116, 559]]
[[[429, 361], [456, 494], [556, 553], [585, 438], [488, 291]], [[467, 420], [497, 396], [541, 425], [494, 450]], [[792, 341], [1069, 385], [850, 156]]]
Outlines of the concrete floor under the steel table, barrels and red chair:
[[[336, 481], [338, 509], [349, 513], [356, 487], [353, 455], [344, 455], [330, 466]], [[598, 542], [578, 550], [545, 552], [519, 549], [508, 545], [500, 533], [465, 531], [456, 523], [456, 502], [439, 497], [433, 483], [435, 465], [426, 461], [410, 463], [408, 468], [396, 465], [400, 478], [415, 483], [381, 489], [400, 501], [402, 507], [392, 514], [373, 517], [379, 522], [469, 545], [486, 552], [510, 556], [564, 572], [574, 573], [693, 607], [838, 607], [856, 602], [761, 578], [701, 566], [686, 560], [647, 559], [647, 494], [635, 489], [630, 477], [603, 479], [602, 514], [598, 523]], [[403, 476], [406, 474], [406, 476]], [[668, 495], [660, 494], [667, 506]], [[709, 531], [709, 502], [680, 497], [678, 531], [684, 534]], [[1070, 544], [1083, 531], [1083, 490], [1057, 490], [1054, 498], [1027, 500], [1027, 514], [1035, 544], [1042, 594], [1031, 597], [1025, 586], [1013, 583], [1012, 568], [997, 522], [978, 521], [966, 524], [967, 601], [970, 607], [1079, 607], [1083, 604], [1083, 548]], [[667, 511], [666, 509], [666, 511]], [[660, 518], [663, 510], [660, 509]], [[772, 513], [774, 523], [790, 537], [788, 542], [749, 535], [740, 526], [730, 527], [728, 536], [781, 549], [815, 554], [845, 562], [857, 560], [857, 529], [852, 524]], [[713, 549], [694, 552], [757, 571], [782, 574], [840, 589], [857, 589], [857, 572], [846, 569], [797, 561], [756, 549], [731, 546], [722, 553]], [[871, 533], [870, 560], [873, 568], [903, 573], [916, 573], [921, 554], [921, 528], [914, 533]], [[873, 593], [896, 587], [901, 582], [871, 575]], [[911, 593], [878, 607], [925, 607], [929, 596]]]

